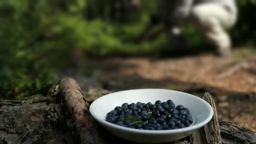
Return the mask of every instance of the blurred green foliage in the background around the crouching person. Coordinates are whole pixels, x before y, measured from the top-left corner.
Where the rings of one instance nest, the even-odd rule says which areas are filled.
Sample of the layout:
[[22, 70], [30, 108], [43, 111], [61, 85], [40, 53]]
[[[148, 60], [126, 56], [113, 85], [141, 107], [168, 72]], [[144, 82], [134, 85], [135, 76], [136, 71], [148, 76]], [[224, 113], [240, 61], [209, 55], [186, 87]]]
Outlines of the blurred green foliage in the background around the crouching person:
[[[74, 51], [87, 55], [156, 55], [166, 49], [165, 35], [133, 42], [154, 12], [155, 1], [127, 10], [116, 20], [114, 0], [0, 1], [0, 98], [45, 94], [58, 65]], [[255, 0], [238, 1], [240, 16], [232, 29], [235, 44], [255, 45]], [[123, 13], [123, 12], [122, 12]], [[191, 26], [183, 27], [190, 46], [206, 42]]]

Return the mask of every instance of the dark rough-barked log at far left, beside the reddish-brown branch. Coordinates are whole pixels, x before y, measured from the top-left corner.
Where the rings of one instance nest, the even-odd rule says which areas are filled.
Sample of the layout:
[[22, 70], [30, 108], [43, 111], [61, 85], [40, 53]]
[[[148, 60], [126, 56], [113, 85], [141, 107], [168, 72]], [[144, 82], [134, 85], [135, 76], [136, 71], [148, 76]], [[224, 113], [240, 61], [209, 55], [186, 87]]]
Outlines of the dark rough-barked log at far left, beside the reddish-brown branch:
[[79, 142], [64, 105], [49, 104], [43, 95], [8, 102], [0, 106], [0, 143]]

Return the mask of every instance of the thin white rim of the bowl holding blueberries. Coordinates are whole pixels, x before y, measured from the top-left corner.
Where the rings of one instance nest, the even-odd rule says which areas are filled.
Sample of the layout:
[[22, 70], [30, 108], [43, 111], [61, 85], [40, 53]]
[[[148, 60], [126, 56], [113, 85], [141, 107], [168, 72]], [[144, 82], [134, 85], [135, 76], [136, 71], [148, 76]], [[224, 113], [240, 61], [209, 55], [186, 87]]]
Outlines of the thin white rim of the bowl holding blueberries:
[[[194, 97], [195, 99], [201, 101], [201, 103], [205, 103], [207, 105], [207, 109], [210, 109], [210, 112], [208, 113], [208, 116], [206, 119], [204, 119], [202, 122], [197, 123], [195, 125], [191, 125], [190, 127], [185, 127], [185, 128], [179, 128], [179, 129], [171, 129], [171, 130], [142, 130], [142, 129], [132, 129], [132, 128], [125, 128], [125, 127], [121, 127], [119, 125], [113, 124], [113, 123], [109, 123], [107, 121], [105, 121], [104, 119], [100, 118], [99, 116], [96, 115], [96, 113], [92, 112], [92, 107], [94, 107], [94, 105], [97, 103], [95, 101], [100, 100], [102, 98], [106, 98], [109, 95], [112, 94], [116, 94], [116, 93], [122, 93], [122, 92], [127, 92], [127, 91], [153, 91], [153, 90], [160, 90], [160, 91], [173, 91], [173, 92], [178, 92], [178, 93], [183, 93], [186, 95], [190, 95], [190, 97]], [[181, 91], [174, 91], [171, 89], [159, 89], [159, 88], [142, 88], [142, 89], [129, 89], [129, 90], [125, 90], [125, 91], [119, 91], [119, 92], [114, 92], [114, 93], [109, 93], [106, 95], [103, 95], [102, 97], [96, 99], [94, 102], [92, 102], [92, 104], [90, 105], [89, 111], [92, 115], [92, 117], [94, 117], [96, 119], [97, 122], [99, 123], [103, 123], [105, 125], [107, 125], [108, 127], [112, 127], [115, 129], [119, 129], [119, 130], [123, 130], [123, 131], [127, 131], [130, 133], [139, 133], [139, 134], [154, 134], [154, 135], [162, 135], [162, 134], [180, 134], [180, 133], [185, 133], [185, 132], [189, 132], [189, 131], [194, 131], [196, 129], [199, 129], [201, 127], [203, 127], [204, 125], [206, 125], [208, 122], [211, 121], [212, 117], [213, 117], [213, 109], [212, 106], [210, 104], [208, 104], [205, 100], [196, 97], [195, 95], [189, 94], [189, 93], [184, 93]]]

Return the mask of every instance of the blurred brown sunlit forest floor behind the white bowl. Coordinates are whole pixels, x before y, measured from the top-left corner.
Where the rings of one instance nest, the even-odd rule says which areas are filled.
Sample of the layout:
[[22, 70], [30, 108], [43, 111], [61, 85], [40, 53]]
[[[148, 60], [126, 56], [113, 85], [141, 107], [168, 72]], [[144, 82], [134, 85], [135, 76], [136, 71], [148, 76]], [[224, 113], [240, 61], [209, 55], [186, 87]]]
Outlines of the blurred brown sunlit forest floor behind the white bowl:
[[209, 53], [175, 58], [85, 58], [78, 66], [68, 73], [62, 70], [61, 76], [72, 75], [82, 88], [166, 88], [199, 97], [210, 92], [217, 103], [219, 121], [256, 131], [255, 50], [236, 49], [225, 58]]

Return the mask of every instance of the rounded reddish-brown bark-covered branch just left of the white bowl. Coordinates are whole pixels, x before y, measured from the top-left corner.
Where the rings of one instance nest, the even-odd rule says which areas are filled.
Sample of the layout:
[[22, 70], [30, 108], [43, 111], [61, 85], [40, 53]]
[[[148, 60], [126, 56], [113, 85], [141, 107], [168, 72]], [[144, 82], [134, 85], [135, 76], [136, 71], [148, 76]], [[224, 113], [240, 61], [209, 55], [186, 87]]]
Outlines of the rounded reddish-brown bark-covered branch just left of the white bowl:
[[99, 125], [90, 115], [86, 97], [77, 82], [65, 78], [51, 89], [54, 89], [55, 93], [49, 92], [48, 97], [56, 97], [60, 94], [62, 104], [67, 106], [72, 115], [81, 143], [106, 143], [100, 133]]

